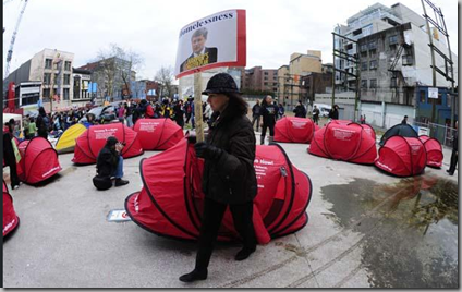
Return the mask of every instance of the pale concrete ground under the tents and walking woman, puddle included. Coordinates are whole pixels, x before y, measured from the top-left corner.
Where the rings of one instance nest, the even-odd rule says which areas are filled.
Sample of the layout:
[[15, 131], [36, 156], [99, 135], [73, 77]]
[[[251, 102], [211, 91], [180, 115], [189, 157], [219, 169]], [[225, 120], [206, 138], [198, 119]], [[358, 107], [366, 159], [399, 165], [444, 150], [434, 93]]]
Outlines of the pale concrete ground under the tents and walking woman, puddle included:
[[[421, 181], [393, 178], [374, 166], [312, 156], [306, 151], [308, 145], [281, 145], [313, 182], [309, 222], [295, 234], [258, 246], [244, 261], [233, 259], [239, 245], [218, 244], [209, 278], [192, 284], [178, 278], [194, 267], [194, 243], [159, 238], [132, 221], [107, 220], [110, 210], [123, 209], [126, 196], [142, 188], [139, 161], [158, 153], [125, 159], [130, 184], [106, 192], [92, 184], [95, 166], [76, 167], [71, 162], [73, 154], [61, 155], [63, 170], [54, 181], [10, 191], [21, 223], [3, 244], [3, 287], [458, 285], [453, 212], [446, 211], [438, 220], [421, 217], [422, 208], [411, 212], [433, 202], [439, 186], [457, 185], [458, 172], [449, 177], [446, 167], [427, 168], [422, 178], [434, 180], [438, 187], [423, 188], [420, 195], [403, 194]], [[446, 166], [449, 159], [450, 151], [445, 149]], [[423, 220], [430, 222], [425, 233]]]

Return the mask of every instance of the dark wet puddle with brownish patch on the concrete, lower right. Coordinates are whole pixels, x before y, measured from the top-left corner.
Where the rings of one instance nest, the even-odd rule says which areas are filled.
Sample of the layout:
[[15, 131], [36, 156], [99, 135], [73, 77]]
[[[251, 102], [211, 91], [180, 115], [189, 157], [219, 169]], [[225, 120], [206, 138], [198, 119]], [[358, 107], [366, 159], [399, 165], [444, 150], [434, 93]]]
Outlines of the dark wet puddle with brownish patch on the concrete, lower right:
[[436, 177], [321, 187], [325, 216], [365, 235], [362, 265], [375, 288], [457, 288], [458, 185]]

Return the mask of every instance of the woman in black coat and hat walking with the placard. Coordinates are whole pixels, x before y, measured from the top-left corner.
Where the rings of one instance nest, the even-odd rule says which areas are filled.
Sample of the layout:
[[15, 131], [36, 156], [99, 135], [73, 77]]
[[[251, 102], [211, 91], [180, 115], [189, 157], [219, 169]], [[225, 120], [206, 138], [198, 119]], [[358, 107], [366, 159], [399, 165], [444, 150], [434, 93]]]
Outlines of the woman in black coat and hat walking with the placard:
[[228, 206], [244, 245], [235, 260], [246, 259], [255, 252], [257, 243], [252, 221], [253, 200], [257, 195], [254, 169], [256, 141], [246, 117], [247, 104], [227, 73], [212, 76], [203, 95], [208, 95], [214, 122], [207, 142], [194, 145], [196, 156], [205, 159], [205, 200], [196, 265], [192, 272], [180, 277], [183, 282], [207, 278], [214, 243]]

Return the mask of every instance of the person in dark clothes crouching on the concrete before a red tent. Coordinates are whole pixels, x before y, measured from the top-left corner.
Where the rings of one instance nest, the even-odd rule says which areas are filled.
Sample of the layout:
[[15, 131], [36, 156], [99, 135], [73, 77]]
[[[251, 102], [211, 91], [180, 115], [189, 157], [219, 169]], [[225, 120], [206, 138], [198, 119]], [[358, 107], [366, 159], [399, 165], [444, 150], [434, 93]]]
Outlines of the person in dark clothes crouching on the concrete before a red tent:
[[129, 181], [122, 180], [123, 177], [123, 144], [119, 143], [117, 137], [110, 136], [106, 141], [105, 147], [99, 151], [96, 160], [96, 172], [100, 178], [110, 180], [115, 178], [115, 186], [125, 185]]

